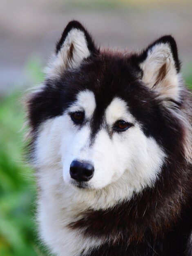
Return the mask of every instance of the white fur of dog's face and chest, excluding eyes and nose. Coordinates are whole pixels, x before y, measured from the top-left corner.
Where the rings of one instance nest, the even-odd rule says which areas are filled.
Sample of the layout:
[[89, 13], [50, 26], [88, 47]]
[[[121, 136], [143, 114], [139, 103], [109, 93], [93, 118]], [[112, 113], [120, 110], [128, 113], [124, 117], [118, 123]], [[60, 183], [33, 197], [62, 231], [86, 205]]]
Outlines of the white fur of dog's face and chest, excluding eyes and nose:
[[[45, 121], [38, 131], [34, 161], [41, 189], [38, 220], [42, 238], [60, 256], [76, 256], [104, 242], [102, 237], [83, 238], [80, 230], [72, 231], [66, 226], [89, 208], [107, 209], [153, 186], [165, 158], [163, 150], [144, 135], [125, 101], [119, 98], [107, 107], [103, 128], [90, 146], [90, 121], [95, 107], [93, 92], [80, 92], [62, 116]], [[82, 128], [74, 125], [68, 114], [74, 109], [84, 110], [88, 118]], [[104, 127], [112, 129], [118, 119], [131, 121], [134, 126], [109, 137]], [[94, 176], [88, 182], [91, 189], [78, 189], [71, 184], [69, 168], [74, 159], [94, 164]]]

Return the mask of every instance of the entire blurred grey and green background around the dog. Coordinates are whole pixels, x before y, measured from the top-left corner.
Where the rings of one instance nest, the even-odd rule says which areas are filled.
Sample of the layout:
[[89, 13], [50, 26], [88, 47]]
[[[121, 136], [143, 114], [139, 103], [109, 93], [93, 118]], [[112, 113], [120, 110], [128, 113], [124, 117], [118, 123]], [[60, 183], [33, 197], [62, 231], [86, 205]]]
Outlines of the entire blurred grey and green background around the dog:
[[48, 255], [36, 232], [34, 171], [23, 157], [22, 97], [43, 80], [42, 67], [71, 19], [98, 45], [120, 49], [172, 34], [192, 87], [191, 0], [0, 0], [0, 256]]

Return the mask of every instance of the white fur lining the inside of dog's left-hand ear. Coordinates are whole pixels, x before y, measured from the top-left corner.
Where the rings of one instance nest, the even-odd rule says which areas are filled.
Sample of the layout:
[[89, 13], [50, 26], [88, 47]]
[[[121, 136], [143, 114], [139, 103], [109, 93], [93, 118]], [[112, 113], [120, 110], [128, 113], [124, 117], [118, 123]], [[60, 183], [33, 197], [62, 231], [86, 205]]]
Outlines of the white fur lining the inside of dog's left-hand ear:
[[[73, 44], [73, 56], [69, 59], [71, 44]], [[58, 54], [53, 55], [49, 61], [45, 74], [47, 77], [60, 76], [67, 68], [78, 67], [81, 61], [89, 56], [85, 34], [79, 29], [71, 29]]]

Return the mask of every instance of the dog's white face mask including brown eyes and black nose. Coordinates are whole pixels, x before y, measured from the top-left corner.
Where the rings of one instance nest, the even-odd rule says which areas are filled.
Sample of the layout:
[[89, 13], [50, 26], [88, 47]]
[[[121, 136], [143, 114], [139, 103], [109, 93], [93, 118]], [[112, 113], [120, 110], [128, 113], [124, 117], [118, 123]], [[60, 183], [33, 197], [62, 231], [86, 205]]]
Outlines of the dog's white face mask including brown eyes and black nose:
[[63, 115], [64, 181], [101, 189], [126, 172], [127, 184], [135, 189], [154, 182], [163, 163], [161, 147], [145, 136], [127, 101], [116, 96], [107, 106], [99, 103], [93, 91], [80, 91]]

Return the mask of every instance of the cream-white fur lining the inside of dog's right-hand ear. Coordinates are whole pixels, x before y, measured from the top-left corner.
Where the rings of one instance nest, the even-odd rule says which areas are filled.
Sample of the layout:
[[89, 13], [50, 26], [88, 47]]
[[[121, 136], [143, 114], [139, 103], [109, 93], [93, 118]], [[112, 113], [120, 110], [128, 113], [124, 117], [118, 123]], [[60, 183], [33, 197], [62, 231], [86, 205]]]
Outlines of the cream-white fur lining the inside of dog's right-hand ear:
[[[161, 67], [166, 65], [165, 77], [157, 83], [157, 78]], [[167, 98], [179, 101], [180, 90], [179, 86], [180, 74], [177, 74], [174, 59], [170, 49], [170, 45], [167, 43], [159, 43], [154, 45], [152, 49], [148, 51], [147, 58], [140, 64], [143, 70], [143, 81], [149, 88], [156, 90], [159, 94], [159, 98], [165, 99], [164, 104], [170, 106], [172, 103], [166, 101]]]

